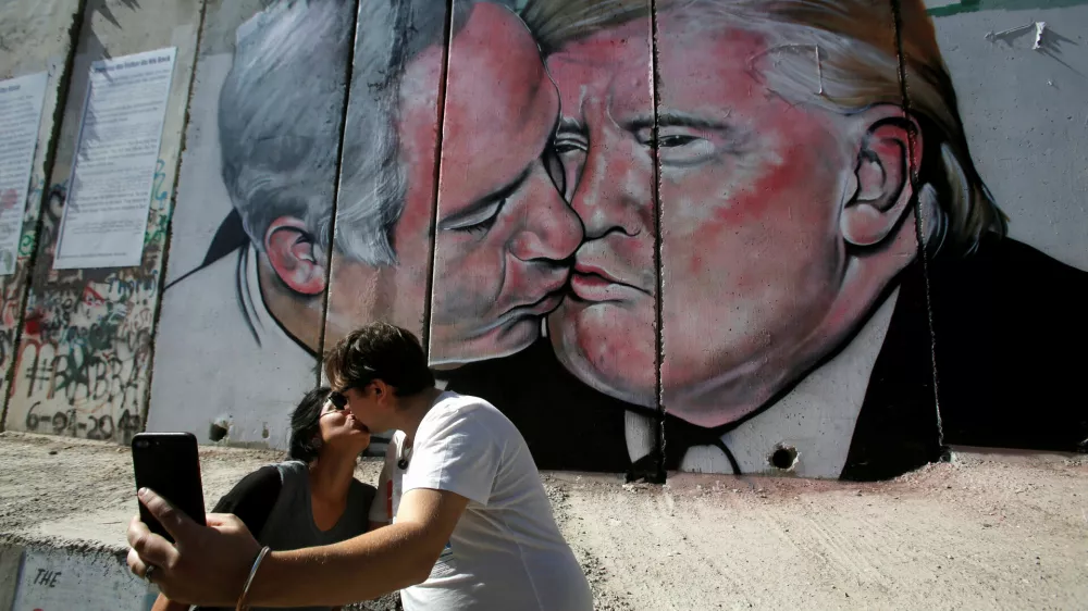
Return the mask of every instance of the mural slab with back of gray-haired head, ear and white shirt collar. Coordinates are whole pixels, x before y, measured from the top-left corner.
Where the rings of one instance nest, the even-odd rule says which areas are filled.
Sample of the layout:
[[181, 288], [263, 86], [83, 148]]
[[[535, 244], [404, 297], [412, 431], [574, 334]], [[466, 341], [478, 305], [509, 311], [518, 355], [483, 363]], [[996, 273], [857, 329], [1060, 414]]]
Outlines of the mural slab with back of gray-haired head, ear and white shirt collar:
[[215, 228], [195, 269], [171, 262], [148, 428], [285, 447], [317, 382], [355, 3], [248, 4], [207, 9], [206, 32], [236, 25], [200, 59], [194, 99], [213, 112], [188, 125], [174, 248], [190, 248], [181, 223], [207, 222], [195, 215]]

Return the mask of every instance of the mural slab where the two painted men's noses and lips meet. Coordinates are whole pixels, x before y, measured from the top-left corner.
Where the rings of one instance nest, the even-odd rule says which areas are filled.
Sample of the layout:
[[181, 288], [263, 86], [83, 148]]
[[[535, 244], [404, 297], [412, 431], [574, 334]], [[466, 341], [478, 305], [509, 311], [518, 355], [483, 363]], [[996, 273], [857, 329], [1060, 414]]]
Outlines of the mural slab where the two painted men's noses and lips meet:
[[[498, 13], [479, 4], [471, 20], [486, 24], [490, 12]], [[505, 26], [507, 39], [477, 39], [467, 28], [450, 47], [438, 211], [452, 219], [437, 227], [450, 246], [440, 241], [435, 253], [431, 359], [448, 370], [448, 388], [504, 410], [545, 469], [622, 472], [632, 460], [652, 466], [658, 441], [650, 3], [530, 2], [521, 16], [522, 24], [492, 18], [492, 32]], [[512, 53], [518, 43], [524, 51]], [[474, 79], [489, 78], [478, 64], [522, 75], [499, 80], [505, 90], [490, 101], [532, 112], [473, 112]], [[487, 138], [517, 148], [482, 154], [494, 149]], [[462, 202], [465, 175], [486, 176], [469, 184], [498, 197]], [[471, 224], [458, 219], [460, 209]], [[490, 320], [474, 328], [462, 323], [454, 348], [436, 345], [440, 304], [459, 297], [463, 308], [472, 296], [482, 297], [491, 311], [479, 311]], [[628, 421], [643, 420], [651, 426], [629, 437]]]

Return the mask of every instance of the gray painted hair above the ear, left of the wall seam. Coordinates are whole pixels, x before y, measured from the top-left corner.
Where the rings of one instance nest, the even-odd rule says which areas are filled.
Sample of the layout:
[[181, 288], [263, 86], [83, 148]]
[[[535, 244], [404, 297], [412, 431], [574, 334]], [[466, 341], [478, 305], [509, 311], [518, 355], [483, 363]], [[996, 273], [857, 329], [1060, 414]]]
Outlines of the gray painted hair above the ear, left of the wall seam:
[[222, 174], [255, 246], [296, 216], [327, 246], [350, 50], [350, 0], [284, 0], [238, 28], [220, 92]]

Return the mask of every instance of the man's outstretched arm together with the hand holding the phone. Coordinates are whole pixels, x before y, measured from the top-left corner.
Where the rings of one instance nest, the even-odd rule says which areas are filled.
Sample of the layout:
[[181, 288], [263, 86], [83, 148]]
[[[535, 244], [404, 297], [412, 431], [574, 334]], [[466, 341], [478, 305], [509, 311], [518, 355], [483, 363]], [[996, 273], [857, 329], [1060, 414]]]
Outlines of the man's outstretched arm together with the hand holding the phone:
[[[260, 550], [240, 520], [209, 513], [200, 526], [153, 490], [139, 499], [174, 537], [171, 545], [134, 516], [128, 525], [128, 568], [143, 577], [158, 566], [154, 583], [171, 600], [206, 607], [237, 603]], [[272, 552], [250, 587], [260, 607], [348, 604], [422, 583], [468, 506], [457, 494], [418, 488], [400, 501], [397, 523], [318, 548]]]

